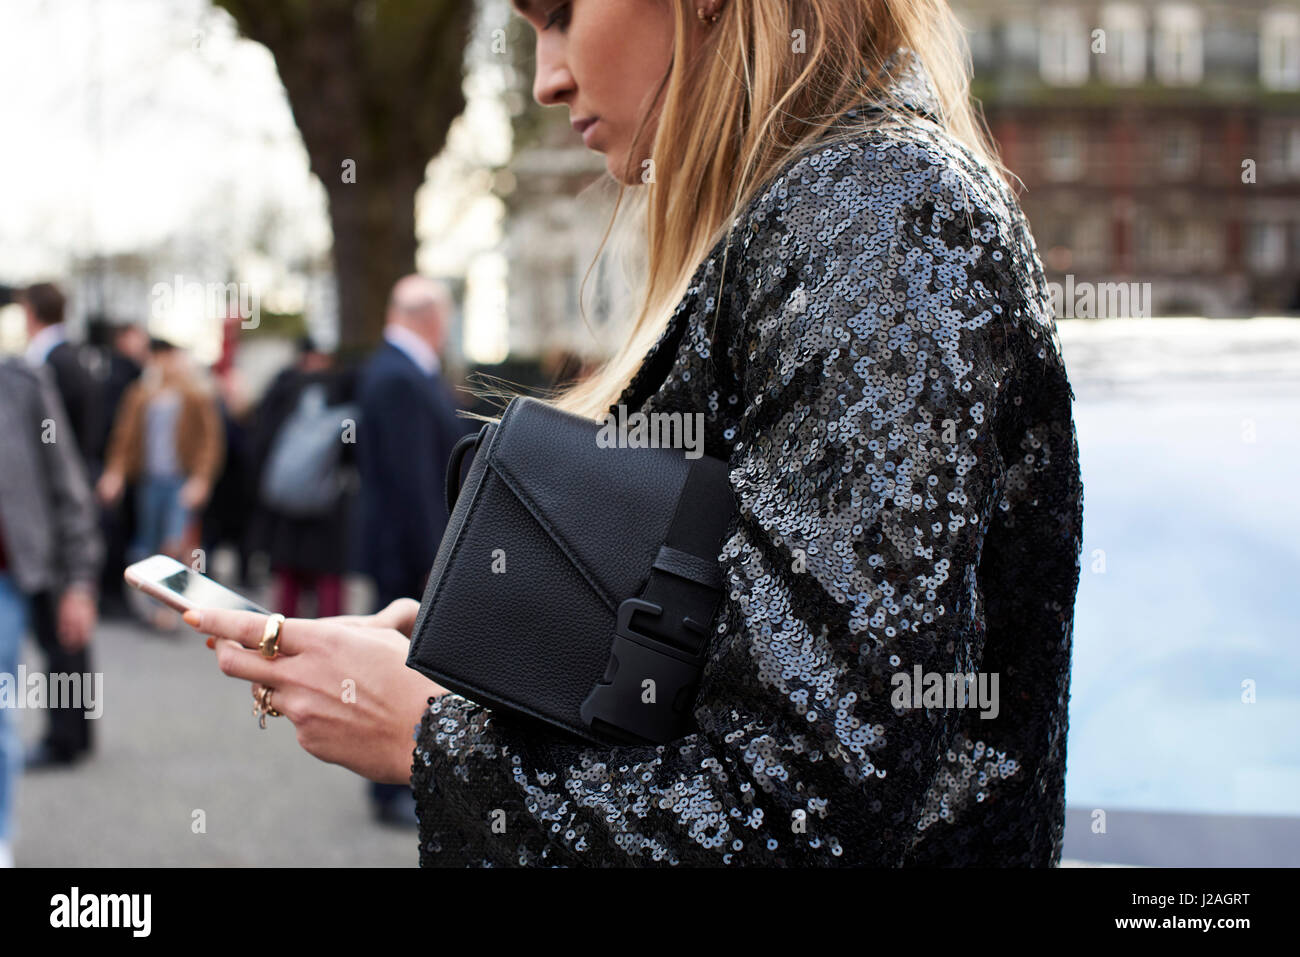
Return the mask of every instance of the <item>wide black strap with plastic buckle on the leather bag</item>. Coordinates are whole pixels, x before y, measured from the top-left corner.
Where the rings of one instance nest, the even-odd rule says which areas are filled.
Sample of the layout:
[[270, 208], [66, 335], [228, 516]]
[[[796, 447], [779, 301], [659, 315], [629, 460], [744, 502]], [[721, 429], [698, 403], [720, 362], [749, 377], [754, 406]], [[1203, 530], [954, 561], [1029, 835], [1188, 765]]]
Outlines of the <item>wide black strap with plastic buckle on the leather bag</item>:
[[692, 460], [646, 584], [619, 605], [604, 676], [580, 709], [593, 731], [662, 744], [690, 727], [722, 597], [718, 553], [732, 510], [727, 463]]

